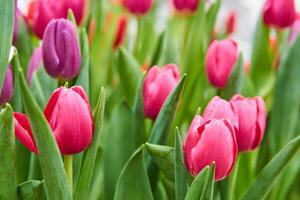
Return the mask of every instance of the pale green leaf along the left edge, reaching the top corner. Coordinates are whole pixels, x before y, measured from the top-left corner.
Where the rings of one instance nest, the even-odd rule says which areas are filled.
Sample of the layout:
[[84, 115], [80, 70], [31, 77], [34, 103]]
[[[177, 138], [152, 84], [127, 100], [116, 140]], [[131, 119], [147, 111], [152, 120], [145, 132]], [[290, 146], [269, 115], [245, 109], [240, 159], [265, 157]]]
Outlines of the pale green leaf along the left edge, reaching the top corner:
[[[0, 2], [0, 91], [8, 65], [8, 57], [13, 38], [14, 0]], [[5, 30], [5, 31], [4, 31]]]

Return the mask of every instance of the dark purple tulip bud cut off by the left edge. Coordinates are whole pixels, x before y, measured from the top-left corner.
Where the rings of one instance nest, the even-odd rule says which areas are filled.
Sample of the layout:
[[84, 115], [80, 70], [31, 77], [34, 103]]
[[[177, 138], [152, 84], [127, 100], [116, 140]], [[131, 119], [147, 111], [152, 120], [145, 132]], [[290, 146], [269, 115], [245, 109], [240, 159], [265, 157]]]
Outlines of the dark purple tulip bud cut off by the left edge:
[[0, 106], [9, 102], [13, 96], [14, 91], [14, 78], [11, 70], [11, 66], [9, 65], [4, 77], [2, 91], [0, 93]]

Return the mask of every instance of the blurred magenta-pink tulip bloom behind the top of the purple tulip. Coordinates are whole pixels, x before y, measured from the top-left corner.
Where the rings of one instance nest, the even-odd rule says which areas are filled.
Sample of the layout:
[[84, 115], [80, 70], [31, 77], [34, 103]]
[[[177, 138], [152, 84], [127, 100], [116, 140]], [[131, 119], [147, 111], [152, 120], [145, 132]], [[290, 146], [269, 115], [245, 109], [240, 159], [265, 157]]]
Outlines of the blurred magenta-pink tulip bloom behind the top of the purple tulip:
[[29, 4], [26, 19], [33, 32], [42, 39], [48, 23], [52, 19], [67, 18], [69, 9], [79, 24], [84, 17], [85, 4], [85, 0], [33, 0]]

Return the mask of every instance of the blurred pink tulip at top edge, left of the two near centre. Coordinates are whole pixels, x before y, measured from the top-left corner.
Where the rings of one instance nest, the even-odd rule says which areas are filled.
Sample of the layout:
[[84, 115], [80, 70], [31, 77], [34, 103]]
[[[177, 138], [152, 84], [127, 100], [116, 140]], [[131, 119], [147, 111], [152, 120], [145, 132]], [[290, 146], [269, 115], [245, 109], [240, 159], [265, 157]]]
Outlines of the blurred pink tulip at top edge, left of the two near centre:
[[132, 14], [145, 15], [152, 6], [152, 0], [124, 0], [123, 6]]

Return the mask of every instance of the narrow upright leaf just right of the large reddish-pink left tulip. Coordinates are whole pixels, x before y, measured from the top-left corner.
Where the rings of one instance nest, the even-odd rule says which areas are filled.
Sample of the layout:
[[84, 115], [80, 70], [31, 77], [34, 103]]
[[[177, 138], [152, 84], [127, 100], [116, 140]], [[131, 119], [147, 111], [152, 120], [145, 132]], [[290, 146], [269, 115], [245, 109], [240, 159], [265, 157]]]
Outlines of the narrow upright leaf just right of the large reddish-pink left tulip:
[[105, 108], [105, 92], [104, 88], [101, 88], [100, 96], [98, 99], [97, 106], [94, 111], [94, 136], [92, 144], [87, 149], [86, 155], [84, 157], [83, 166], [81, 168], [80, 176], [76, 186], [74, 199], [85, 199], [89, 195], [90, 186], [92, 184], [92, 176], [94, 172], [94, 166], [96, 162], [96, 156], [100, 143], [100, 134], [102, 132], [103, 118], [104, 118], [104, 108]]

